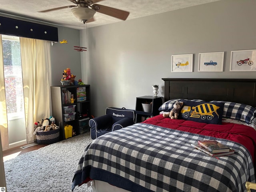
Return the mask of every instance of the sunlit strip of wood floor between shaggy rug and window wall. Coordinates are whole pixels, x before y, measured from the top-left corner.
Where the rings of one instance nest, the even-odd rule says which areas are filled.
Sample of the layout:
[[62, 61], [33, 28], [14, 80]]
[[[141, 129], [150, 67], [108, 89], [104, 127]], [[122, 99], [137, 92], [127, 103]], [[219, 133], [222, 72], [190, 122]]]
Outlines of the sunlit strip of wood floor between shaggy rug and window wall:
[[7, 150], [3, 151], [3, 158], [4, 158], [4, 161], [6, 161], [8, 159], [14, 158], [15, 156], [19, 156], [21, 154], [24, 154], [24, 153], [27, 153], [27, 152], [30, 152], [30, 151], [33, 151], [33, 150], [37, 150], [37, 149], [39, 149], [41, 147], [44, 147], [44, 146], [47, 146], [47, 145], [48, 144], [38, 144], [38, 145], [35, 145], [35, 146], [32, 146], [32, 147], [28, 147], [26, 149], [20, 148], [21, 146], [24, 146], [24, 145], [21, 145], [21, 146], [18, 146], [18, 147], [7, 149]]

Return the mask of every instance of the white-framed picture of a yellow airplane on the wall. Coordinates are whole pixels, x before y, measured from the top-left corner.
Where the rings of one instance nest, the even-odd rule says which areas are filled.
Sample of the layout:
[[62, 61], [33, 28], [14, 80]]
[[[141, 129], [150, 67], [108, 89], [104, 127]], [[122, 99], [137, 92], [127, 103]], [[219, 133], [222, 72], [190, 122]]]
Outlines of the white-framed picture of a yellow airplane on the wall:
[[193, 54], [172, 55], [171, 72], [193, 72]]

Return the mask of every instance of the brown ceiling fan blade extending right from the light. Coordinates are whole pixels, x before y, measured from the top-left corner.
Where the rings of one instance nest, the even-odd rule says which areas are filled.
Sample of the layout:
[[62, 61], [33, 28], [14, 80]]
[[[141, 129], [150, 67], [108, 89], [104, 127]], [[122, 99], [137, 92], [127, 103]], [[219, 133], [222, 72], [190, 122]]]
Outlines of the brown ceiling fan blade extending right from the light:
[[126, 20], [128, 15], [130, 14], [127, 11], [123, 11], [120, 9], [99, 5], [99, 4], [93, 4], [92, 9], [94, 9], [96, 12], [100, 12], [118, 19]]

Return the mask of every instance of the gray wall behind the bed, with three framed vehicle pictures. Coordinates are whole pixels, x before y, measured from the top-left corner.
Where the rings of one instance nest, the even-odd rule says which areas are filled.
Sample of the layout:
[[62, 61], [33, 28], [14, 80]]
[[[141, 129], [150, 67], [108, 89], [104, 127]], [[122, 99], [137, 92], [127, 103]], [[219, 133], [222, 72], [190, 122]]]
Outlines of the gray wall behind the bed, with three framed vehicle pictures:
[[[161, 78], [255, 78], [230, 72], [230, 51], [256, 49], [256, 1], [221, 0], [80, 30], [82, 77], [91, 84], [92, 114], [135, 109], [137, 96], [153, 95]], [[87, 37], [88, 36], [88, 37]], [[198, 54], [225, 52], [223, 72], [198, 72]], [[193, 72], [171, 72], [171, 57], [193, 54]]]

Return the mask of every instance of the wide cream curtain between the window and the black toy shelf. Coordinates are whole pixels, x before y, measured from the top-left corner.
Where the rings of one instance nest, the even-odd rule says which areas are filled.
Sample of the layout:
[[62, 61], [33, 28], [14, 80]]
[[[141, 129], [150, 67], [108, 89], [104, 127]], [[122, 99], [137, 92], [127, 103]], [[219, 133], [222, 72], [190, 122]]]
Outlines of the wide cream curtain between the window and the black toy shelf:
[[50, 117], [50, 42], [20, 38], [27, 143], [34, 142], [34, 122]]

